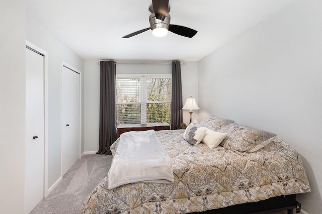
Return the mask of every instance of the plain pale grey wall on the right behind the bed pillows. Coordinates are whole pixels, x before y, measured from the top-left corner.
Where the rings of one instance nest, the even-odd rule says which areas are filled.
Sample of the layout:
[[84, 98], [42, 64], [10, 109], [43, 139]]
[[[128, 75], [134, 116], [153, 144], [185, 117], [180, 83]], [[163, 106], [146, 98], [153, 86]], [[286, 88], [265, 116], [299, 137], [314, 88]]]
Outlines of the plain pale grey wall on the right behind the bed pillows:
[[295, 1], [198, 62], [199, 119], [233, 119], [293, 146], [312, 189], [297, 200], [311, 214], [322, 210], [321, 9]]

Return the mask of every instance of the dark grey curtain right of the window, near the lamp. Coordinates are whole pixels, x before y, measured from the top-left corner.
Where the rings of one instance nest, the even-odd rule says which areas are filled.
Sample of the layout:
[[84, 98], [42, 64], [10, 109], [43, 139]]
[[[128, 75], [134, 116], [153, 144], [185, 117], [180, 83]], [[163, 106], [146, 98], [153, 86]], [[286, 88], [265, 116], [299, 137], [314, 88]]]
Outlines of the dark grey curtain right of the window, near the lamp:
[[172, 62], [172, 101], [171, 101], [171, 129], [177, 129], [183, 123], [182, 114], [182, 84], [180, 61]]

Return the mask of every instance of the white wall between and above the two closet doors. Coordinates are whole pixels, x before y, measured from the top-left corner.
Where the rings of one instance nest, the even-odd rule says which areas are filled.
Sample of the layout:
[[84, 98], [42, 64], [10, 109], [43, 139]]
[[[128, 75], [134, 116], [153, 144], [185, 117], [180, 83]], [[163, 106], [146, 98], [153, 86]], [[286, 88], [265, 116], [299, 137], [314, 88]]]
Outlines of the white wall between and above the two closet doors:
[[[50, 188], [61, 176], [61, 61], [81, 71], [84, 80], [84, 60], [33, 19], [31, 14], [27, 14], [26, 31], [29, 42], [48, 52], [48, 187]], [[84, 115], [84, 112], [82, 114]]]

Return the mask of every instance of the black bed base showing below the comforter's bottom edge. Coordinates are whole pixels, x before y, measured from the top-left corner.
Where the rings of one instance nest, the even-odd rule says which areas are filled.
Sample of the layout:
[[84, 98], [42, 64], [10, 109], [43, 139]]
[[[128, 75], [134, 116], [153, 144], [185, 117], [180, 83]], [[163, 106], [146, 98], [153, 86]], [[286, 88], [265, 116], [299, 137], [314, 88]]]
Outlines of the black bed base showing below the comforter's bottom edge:
[[236, 204], [232, 206], [227, 206], [224, 208], [219, 209], [212, 209], [207, 210], [204, 212], [192, 212], [193, 214], [231, 214], [231, 213], [238, 213], [238, 214], [246, 214], [246, 213], [267, 213], [273, 212], [278, 210], [287, 210], [288, 214], [293, 213], [293, 209], [296, 208], [296, 212], [298, 210], [296, 201], [296, 195], [281, 195], [277, 197], [272, 197], [266, 200], [252, 202], [252, 203], [243, 203], [243, 204]]

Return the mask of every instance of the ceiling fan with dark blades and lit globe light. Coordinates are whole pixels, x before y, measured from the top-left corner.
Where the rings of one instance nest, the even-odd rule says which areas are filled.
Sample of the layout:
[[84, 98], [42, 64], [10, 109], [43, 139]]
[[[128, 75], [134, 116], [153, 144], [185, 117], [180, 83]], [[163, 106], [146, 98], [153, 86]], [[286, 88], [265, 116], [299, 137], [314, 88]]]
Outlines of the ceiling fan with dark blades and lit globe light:
[[149, 29], [152, 30], [152, 34], [156, 37], [166, 36], [168, 31], [171, 31], [180, 36], [192, 38], [198, 32], [191, 28], [170, 24], [169, 0], [152, 0], [149, 11], [151, 12], [151, 15], [149, 16], [150, 27], [123, 36], [123, 38], [130, 38]]

